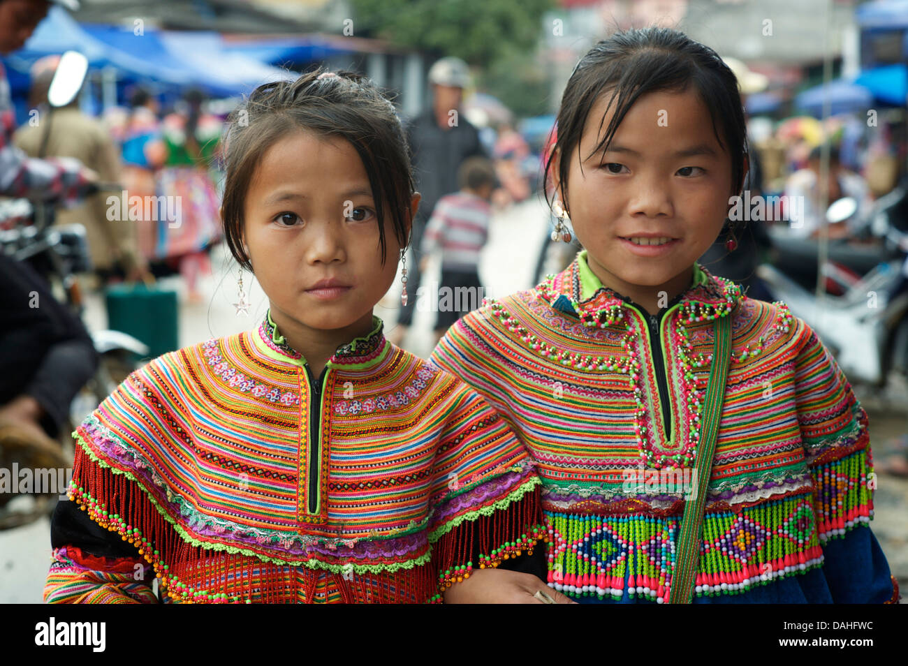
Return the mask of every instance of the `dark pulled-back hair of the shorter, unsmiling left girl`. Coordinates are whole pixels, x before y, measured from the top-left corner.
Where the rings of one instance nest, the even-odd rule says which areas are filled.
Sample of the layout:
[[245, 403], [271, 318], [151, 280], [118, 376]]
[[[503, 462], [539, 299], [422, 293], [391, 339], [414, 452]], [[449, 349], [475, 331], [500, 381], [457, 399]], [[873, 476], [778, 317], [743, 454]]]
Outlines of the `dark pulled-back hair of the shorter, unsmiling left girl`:
[[331, 76], [318, 69], [295, 81], [265, 83], [235, 109], [224, 136], [226, 176], [223, 227], [227, 247], [240, 265], [252, 271], [242, 247], [243, 202], [262, 155], [290, 132], [307, 130], [349, 141], [369, 174], [379, 225], [381, 260], [386, 254], [385, 205], [401, 247], [408, 242], [410, 198], [415, 191], [410, 149], [400, 118], [380, 89], [355, 72]]

